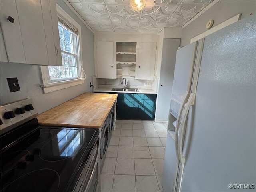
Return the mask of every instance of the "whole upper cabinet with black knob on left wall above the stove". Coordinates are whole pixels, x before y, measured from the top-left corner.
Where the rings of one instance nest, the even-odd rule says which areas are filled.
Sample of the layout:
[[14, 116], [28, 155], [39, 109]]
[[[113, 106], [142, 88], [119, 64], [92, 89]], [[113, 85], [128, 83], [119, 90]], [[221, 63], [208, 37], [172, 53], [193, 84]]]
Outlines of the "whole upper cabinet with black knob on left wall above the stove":
[[1, 1], [1, 28], [9, 62], [62, 65], [54, 1]]

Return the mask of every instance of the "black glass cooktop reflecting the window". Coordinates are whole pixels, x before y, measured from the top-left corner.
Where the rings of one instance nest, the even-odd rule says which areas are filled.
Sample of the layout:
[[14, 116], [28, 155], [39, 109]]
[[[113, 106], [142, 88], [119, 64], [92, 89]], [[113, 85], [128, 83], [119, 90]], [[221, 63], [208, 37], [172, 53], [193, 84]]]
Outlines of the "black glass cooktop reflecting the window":
[[72, 191], [98, 130], [22, 127], [1, 136], [1, 192]]

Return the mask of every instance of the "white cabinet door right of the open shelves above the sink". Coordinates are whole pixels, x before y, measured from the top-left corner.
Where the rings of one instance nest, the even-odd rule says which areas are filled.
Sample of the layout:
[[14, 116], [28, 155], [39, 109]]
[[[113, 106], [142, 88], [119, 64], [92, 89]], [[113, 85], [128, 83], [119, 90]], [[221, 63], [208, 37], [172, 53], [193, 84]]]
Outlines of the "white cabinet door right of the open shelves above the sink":
[[138, 61], [136, 61], [135, 79], [154, 79], [156, 43], [138, 43]]

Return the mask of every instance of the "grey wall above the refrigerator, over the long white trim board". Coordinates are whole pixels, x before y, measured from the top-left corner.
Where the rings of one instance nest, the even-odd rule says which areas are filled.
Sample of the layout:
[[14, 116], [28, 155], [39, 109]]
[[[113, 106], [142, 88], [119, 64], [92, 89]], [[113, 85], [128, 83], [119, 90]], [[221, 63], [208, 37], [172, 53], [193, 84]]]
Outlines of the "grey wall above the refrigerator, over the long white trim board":
[[190, 44], [190, 39], [205, 32], [208, 20], [214, 20], [212, 27], [232, 18], [237, 14], [242, 14], [241, 19], [253, 13], [255, 17], [255, 0], [220, 0], [196, 20], [182, 29], [180, 46]]

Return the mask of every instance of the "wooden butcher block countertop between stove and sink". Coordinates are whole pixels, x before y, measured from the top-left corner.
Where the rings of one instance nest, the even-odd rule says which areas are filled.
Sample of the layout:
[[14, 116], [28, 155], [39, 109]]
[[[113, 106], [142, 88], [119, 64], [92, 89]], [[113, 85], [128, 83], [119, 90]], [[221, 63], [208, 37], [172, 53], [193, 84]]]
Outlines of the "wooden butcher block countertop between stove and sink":
[[39, 125], [101, 128], [118, 94], [84, 93], [40, 115]]

